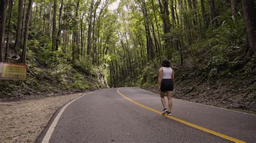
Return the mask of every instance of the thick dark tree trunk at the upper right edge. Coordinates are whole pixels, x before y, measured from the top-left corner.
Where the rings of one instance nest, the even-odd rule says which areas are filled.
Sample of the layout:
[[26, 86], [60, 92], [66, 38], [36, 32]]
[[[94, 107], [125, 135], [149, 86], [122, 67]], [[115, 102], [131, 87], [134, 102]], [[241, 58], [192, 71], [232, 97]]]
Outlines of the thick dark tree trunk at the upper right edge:
[[242, 0], [242, 11], [244, 13], [248, 45], [250, 46], [247, 55], [252, 55], [256, 51], [256, 10], [254, 1]]

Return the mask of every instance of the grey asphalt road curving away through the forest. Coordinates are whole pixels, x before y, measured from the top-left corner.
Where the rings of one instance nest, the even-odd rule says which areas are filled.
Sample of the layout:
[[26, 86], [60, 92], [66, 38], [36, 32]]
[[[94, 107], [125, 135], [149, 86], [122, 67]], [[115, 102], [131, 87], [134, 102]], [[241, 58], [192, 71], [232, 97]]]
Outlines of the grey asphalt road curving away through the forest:
[[254, 115], [173, 99], [169, 118], [159, 115], [158, 95], [118, 91], [97, 90], [63, 106], [36, 142], [256, 142]]

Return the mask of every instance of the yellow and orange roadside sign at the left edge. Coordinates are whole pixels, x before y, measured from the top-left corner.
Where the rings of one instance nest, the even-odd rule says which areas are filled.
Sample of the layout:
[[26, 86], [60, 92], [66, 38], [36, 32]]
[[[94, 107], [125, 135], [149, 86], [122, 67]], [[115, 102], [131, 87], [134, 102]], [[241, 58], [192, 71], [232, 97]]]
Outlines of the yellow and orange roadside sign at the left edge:
[[0, 62], [0, 80], [26, 80], [26, 65]]

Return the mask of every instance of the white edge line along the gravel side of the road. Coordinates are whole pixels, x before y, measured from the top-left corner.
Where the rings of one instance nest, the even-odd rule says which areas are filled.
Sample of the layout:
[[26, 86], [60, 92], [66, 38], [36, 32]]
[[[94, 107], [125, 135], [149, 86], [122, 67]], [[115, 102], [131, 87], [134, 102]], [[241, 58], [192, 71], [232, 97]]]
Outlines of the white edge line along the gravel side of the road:
[[[89, 92], [89, 93], [87, 93], [87, 94], [90, 94], [90, 93], [91, 93], [91, 92]], [[85, 95], [87, 95], [87, 94], [85, 94]], [[85, 95], [83, 95], [83, 96], [85, 96]], [[81, 97], [83, 97], [83, 96], [77, 97], [76, 99], [81, 98]], [[48, 131], [46, 132], [46, 134], [45, 134], [44, 139], [42, 140], [42, 142], [44, 142], [44, 143], [49, 142], [49, 140], [50, 140], [50, 138], [51, 138], [51, 135], [52, 135], [52, 133], [53, 133], [53, 131], [54, 131], [54, 129], [55, 129], [57, 123], [58, 123], [58, 120], [59, 120], [60, 116], [62, 116], [62, 113], [64, 112], [64, 110], [65, 110], [71, 103], [73, 103], [74, 101], [76, 101], [76, 99], [73, 99], [71, 102], [69, 102], [68, 104], [66, 104], [66, 105], [62, 108], [62, 110], [59, 111], [58, 115], [57, 115], [57, 116], [55, 117], [55, 119], [52, 121], [51, 126], [49, 127]]]

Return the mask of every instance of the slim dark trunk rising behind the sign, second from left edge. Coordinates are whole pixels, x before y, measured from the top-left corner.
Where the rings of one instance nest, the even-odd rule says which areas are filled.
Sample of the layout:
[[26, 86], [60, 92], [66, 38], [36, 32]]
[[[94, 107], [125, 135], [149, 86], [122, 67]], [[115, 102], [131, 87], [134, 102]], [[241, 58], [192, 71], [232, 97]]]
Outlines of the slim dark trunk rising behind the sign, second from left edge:
[[10, 31], [11, 31], [11, 20], [12, 20], [12, 8], [14, 6], [14, 0], [9, 0], [9, 21], [8, 21], [8, 31], [7, 31], [7, 39], [5, 45], [5, 62], [8, 62], [8, 51], [9, 51], [9, 44], [10, 44]]

